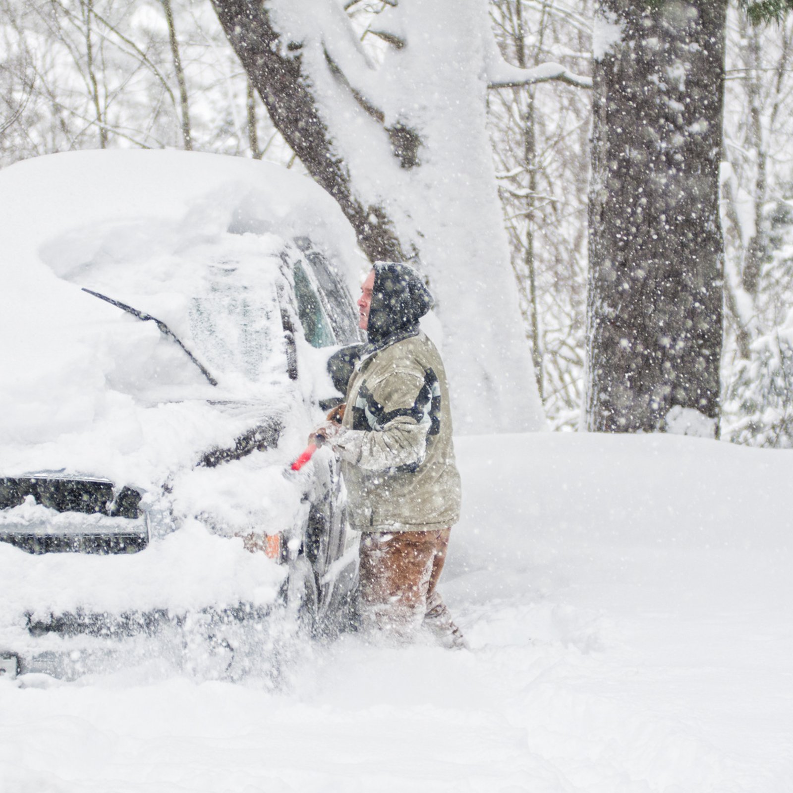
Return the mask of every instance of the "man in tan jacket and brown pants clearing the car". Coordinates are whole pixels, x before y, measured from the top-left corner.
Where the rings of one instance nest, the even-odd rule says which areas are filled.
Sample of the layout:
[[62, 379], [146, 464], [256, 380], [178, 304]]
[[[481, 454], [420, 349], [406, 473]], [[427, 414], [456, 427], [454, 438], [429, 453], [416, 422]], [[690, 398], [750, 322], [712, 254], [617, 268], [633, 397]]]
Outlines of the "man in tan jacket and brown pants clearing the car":
[[358, 300], [368, 343], [347, 402], [310, 441], [330, 443], [342, 460], [350, 522], [362, 532], [362, 628], [407, 641], [423, 625], [442, 645], [462, 647], [436, 588], [460, 516], [460, 476], [446, 373], [419, 330], [432, 304], [411, 267], [375, 262]]

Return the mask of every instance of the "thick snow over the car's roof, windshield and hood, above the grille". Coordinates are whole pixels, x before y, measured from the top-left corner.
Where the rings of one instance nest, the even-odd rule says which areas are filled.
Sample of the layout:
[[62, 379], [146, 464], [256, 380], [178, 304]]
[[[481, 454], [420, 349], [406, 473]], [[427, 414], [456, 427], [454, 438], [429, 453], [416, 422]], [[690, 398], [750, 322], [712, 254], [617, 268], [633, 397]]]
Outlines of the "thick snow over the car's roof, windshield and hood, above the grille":
[[[274, 297], [292, 240], [310, 238], [349, 284], [358, 280], [360, 255], [335, 202], [268, 163], [70, 152], [2, 170], [0, 197], [6, 475], [67, 469], [147, 488], [194, 465], [272, 413], [268, 403], [295, 399]], [[163, 320], [220, 385], [153, 322], [80, 287]], [[219, 301], [231, 306], [228, 327], [213, 322]], [[252, 407], [232, 416], [208, 399]]]

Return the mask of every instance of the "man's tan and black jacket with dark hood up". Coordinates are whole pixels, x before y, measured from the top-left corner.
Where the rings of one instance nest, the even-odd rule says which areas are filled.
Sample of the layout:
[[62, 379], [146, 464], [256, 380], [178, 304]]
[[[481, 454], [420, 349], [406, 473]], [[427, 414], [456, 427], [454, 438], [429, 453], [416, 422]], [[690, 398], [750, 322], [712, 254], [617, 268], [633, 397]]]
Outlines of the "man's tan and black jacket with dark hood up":
[[411, 267], [375, 262], [362, 347], [333, 446], [358, 531], [431, 531], [460, 516], [449, 389], [435, 345], [419, 330], [432, 297]]

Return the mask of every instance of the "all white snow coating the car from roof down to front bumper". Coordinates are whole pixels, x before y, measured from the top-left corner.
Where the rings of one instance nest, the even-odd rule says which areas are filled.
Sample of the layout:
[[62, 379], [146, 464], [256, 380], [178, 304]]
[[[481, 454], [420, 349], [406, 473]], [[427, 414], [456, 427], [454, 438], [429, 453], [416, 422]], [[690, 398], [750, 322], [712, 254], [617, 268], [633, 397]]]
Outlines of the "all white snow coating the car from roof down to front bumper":
[[[144, 492], [154, 534], [188, 527], [129, 556], [32, 557], [0, 543], [6, 619], [271, 598], [283, 571], [199, 522], [231, 535], [305, 521], [311, 485], [282, 473], [319, 418], [309, 405], [330, 396], [315, 393], [327, 353], [302, 354], [298, 332], [300, 377], [289, 377], [282, 311], [292, 308], [279, 294], [292, 278], [285, 259], [299, 261], [306, 240], [357, 281], [335, 202], [281, 167], [182, 151], [17, 163], [0, 172], [0, 201], [0, 477], [106, 478]], [[81, 287], [163, 321], [217, 385], [155, 322]], [[281, 427], [277, 447], [198, 465], [262, 425]], [[114, 520], [43, 512], [28, 504], [3, 517], [64, 531]]]

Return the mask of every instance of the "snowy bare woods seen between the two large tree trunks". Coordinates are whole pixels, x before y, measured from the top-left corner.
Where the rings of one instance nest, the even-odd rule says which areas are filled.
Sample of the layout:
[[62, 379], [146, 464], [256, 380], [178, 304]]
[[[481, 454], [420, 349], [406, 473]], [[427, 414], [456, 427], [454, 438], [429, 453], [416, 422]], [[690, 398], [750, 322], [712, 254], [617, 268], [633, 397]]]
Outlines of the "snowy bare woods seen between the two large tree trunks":
[[[561, 0], [491, 3], [504, 57], [536, 67], [561, 57], [587, 71], [592, 10]], [[580, 420], [584, 382], [590, 92], [555, 83], [491, 91], [499, 192], [534, 372], [552, 427]]]

